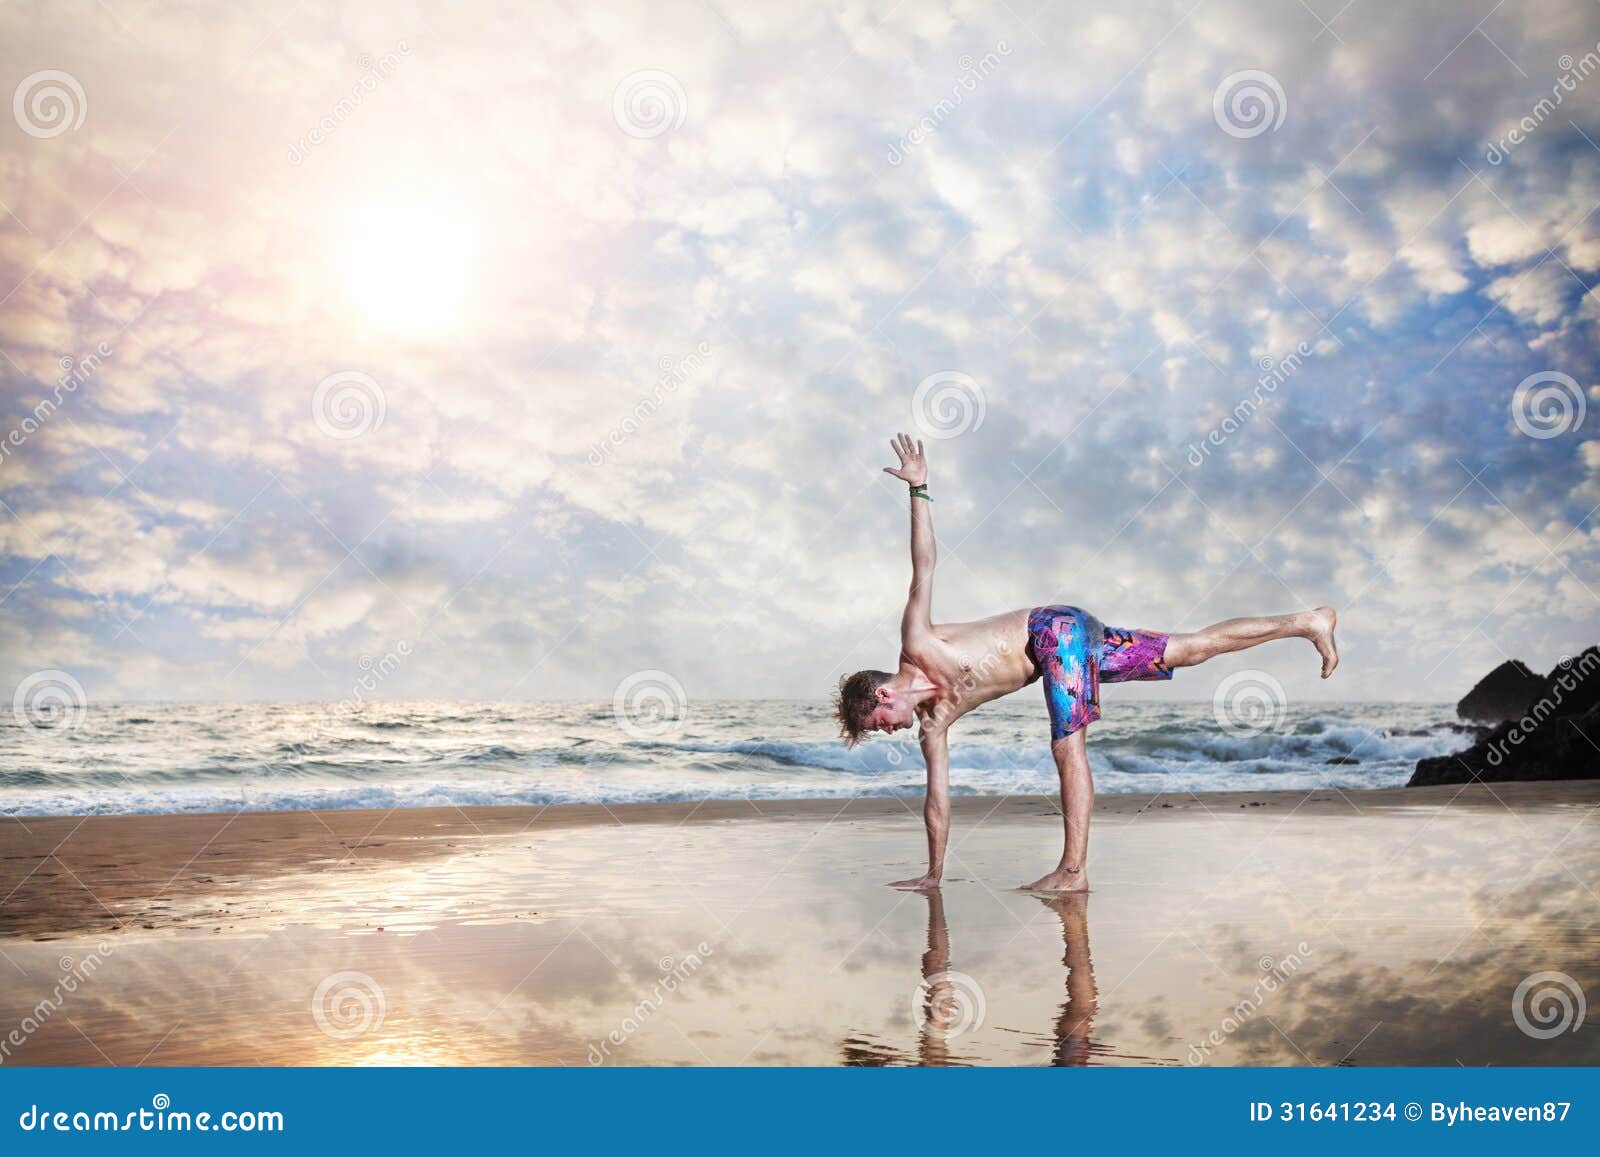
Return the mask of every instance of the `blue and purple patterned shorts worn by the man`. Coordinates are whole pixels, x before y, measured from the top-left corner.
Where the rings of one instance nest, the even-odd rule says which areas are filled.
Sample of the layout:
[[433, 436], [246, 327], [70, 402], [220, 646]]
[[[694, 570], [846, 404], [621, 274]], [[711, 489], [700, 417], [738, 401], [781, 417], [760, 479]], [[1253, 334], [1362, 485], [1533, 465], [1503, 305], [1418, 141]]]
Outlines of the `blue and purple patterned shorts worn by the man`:
[[1027, 615], [1027, 656], [1045, 680], [1050, 738], [1099, 719], [1099, 685], [1171, 679], [1160, 631], [1107, 627], [1078, 607], [1035, 607]]

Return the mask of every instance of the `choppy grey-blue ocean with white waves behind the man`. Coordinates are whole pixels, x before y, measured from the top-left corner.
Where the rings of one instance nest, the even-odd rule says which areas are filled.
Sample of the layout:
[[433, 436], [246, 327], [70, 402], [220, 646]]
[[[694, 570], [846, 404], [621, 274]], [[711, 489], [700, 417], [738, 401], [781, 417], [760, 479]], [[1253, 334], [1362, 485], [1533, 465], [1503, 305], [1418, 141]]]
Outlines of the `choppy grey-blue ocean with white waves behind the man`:
[[[854, 751], [824, 703], [130, 703], [0, 725], [0, 815], [920, 795], [906, 731]], [[1045, 709], [992, 703], [950, 733], [957, 795], [1054, 792]], [[1109, 703], [1099, 792], [1389, 787], [1466, 747], [1450, 704], [1299, 704], [1226, 730], [1206, 703]]]

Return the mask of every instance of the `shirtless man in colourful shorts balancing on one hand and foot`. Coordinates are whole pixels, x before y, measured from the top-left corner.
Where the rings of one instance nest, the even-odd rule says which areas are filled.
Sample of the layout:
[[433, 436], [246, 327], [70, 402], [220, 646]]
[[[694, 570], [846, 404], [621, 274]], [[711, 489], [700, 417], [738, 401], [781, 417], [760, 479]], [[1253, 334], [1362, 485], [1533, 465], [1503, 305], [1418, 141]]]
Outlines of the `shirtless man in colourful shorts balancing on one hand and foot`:
[[923, 821], [928, 826], [928, 872], [896, 880], [894, 888], [936, 888], [944, 875], [944, 843], [950, 827], [950, 723], [1002, 695], [1043, 677], [1050, 707], [1050, 752], [1061, 776], [1066, 848], [1056, 869], [1030, 891], [1088, 891], [1083, 872], [1090, 845], [1094, 779], [1083, 744], [1085, 728], [1099, 719], [1099, 685], [1136, 679], [1171, 679], [1216, 655], [1259, 647], [1274, 639], [1309, 639], [1322, 655], [1322, 677], [1339, 666], [1333, 642], [1338, 621], [1331, 607], [1296, 615], [1227, 619], [1192, 634], [1126, 631], [1101, 624], [1078, 607], [1034, 607], [978, 623], [941, 623], [933, 611], [933, 514], [928, 462], [920, 442], [898, 435], [891, 443], [898, 467], [886, 474], [910, 485], [910, 597], [901, 619], [899, 671], [858, 671], [838, 683], [838, 725], [856, 744], [866, 731], [901, 731], [922, 723], [922, 757], [928, 765]]

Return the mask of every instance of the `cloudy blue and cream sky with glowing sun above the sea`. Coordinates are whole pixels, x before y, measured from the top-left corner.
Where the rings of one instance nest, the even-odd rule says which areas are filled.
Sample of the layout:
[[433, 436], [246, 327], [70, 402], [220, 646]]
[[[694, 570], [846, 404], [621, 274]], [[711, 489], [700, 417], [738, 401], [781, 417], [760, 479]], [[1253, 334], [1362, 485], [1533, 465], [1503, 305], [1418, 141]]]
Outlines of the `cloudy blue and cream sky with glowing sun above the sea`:
[[822, 698], [899, 429], [936, 621], [1341, 610], [1150, 695], [1600, 639], [1589, 0], [11, 0], [0, 82], [0, 691]]

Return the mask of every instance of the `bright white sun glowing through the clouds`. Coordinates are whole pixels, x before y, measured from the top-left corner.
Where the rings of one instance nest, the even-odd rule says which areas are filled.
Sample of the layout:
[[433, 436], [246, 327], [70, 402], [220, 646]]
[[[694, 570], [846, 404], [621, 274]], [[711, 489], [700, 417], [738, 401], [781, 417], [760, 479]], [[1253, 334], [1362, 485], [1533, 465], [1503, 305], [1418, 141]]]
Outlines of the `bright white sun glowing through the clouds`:
[[459, 210], [381, 202], [347, 229], [341, 272], [352, 304], [394, 333], [458, 330], [467, 299], [472, 234]]

